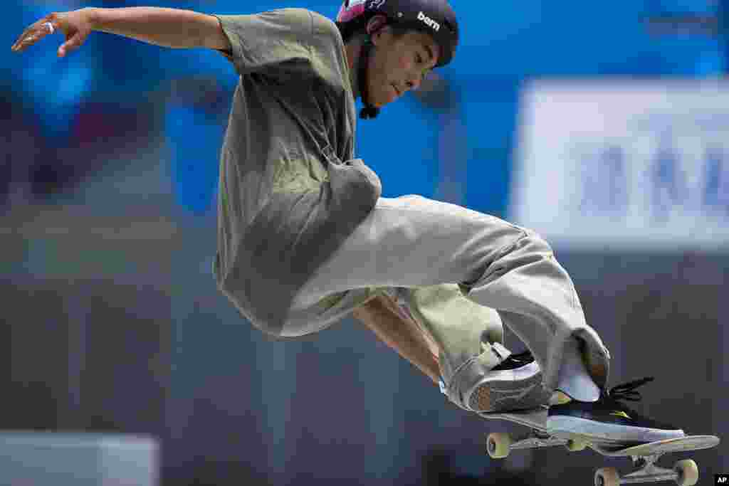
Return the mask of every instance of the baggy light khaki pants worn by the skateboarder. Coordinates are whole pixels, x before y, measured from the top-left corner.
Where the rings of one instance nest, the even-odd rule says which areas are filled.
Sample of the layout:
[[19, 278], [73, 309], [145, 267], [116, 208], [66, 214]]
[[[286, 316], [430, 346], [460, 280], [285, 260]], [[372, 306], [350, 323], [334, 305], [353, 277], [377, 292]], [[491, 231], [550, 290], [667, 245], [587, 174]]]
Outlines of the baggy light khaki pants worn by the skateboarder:
[[420, 196], [381, 197], [300, 289], [282, 335], [324, 329], [379, 291], [399, 294], [438, 343], [453, 391], [506, 358], [494, 346], [502, 323], [534, 353], [546, 391], [571, 339], [595, 382], [607, 385], [609, 352], [586, 324], [569, 275], [530, 230]]

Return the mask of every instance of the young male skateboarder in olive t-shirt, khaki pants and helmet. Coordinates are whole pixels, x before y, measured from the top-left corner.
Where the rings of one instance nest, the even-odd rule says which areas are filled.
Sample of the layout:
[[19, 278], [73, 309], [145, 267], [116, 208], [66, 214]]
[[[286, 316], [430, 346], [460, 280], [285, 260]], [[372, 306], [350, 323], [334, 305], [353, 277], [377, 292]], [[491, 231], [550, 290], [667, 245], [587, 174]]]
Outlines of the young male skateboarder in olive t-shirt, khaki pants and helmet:
[[[354, 158], [356, 98], [360, 117], [377, 117], [453, 59], [459, 23], [445, 0], [349, 0], [337, 23], [305, 9], [81, 9], [44, 17], [13, 49], [55, 31], [59, 56], [103, 31], [233, 63], [214, 273], [258, 329], [300, 337], [354, 313], [469, 411], [549, 405], [555, 432], [684, 435], [620, 402], [645, 381], [607, 391], [607, 348], [542, 238], [457, 205], [381, 197]], [[504, 348], [502, 322], [528, 352]]]

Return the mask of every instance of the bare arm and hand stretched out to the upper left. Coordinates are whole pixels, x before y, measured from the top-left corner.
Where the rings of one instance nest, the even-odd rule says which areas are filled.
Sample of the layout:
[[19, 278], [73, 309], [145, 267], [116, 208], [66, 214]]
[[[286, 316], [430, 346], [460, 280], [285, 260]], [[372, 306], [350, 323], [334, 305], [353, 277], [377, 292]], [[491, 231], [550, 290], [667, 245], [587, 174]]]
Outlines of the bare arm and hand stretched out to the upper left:
[[208, 47], [230, 50], [230, 42], [216, 17], [191, 10], [159, 7], [53, 12], [26, 28], [12, 50], [22, 52], [57, 31], [66, 36], [66, 42], [58, 48], [58, 57], [80, 47], [92, 31], [117, 34], [171, 49]]

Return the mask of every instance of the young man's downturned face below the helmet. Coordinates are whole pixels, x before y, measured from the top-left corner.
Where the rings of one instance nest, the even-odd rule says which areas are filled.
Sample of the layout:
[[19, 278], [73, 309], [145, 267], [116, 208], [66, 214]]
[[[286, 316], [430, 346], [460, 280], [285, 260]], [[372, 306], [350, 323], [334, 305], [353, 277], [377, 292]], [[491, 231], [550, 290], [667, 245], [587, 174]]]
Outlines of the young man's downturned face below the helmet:
[[373, 44], [367, 82], [370, 103], [378, 108], [418, 88], [438, 60], [437, 44], [422, 32], [394, 36], [386, 26], [373, 36]]

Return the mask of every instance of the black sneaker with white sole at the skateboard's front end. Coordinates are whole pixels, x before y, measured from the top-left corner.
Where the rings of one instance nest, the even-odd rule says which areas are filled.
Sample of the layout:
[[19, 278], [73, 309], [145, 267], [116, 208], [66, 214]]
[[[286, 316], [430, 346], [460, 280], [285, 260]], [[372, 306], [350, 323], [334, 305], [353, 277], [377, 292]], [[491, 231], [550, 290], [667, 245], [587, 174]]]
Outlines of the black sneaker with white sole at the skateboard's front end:
[[621, 403], [639, 401], [641, 395], [635, 389], [652, 380], [648, 377], [617, 385], [601, 393], [598, 401], [569, 400], [552, 405], [547, 429], [550, 433], [578, 434], [600, 442], [626, 445], [684, 437], [680, 428], [644, 417]]

